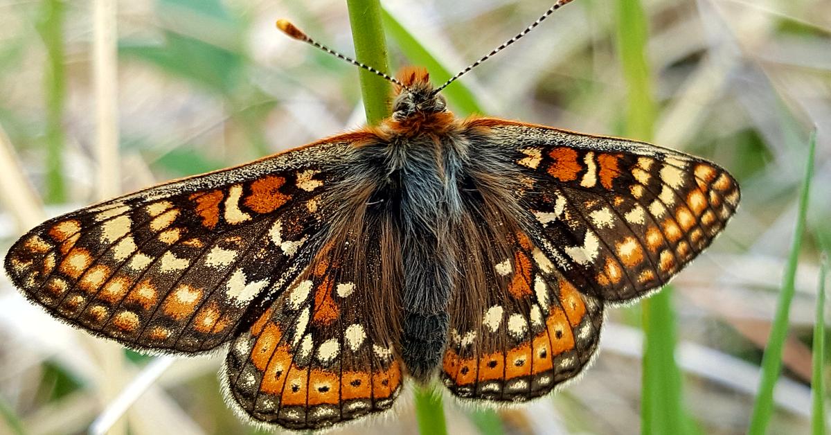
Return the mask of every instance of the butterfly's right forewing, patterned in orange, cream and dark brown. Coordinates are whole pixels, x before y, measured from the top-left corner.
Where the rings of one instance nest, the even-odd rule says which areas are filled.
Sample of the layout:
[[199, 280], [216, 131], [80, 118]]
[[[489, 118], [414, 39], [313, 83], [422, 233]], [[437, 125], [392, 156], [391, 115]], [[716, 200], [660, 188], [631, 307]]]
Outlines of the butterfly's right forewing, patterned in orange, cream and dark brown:
[[529, 237], [583, 294], [625, 302], [666, 284], [735, 213], [739, 185], [715, 164], [639, 141], [482, 119], [513, 156]]

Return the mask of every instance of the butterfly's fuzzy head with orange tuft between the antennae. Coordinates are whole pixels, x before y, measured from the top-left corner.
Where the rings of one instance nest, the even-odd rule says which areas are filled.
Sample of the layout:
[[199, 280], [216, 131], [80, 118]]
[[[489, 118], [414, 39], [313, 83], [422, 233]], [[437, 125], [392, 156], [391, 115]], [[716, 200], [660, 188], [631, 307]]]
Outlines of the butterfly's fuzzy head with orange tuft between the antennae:
[[396, 99], [392, 103], [392, 117], [396, 121], [426, 118], [447, 111], [445, 97], [435, 92], [424, 68], [405, 68], [398, 74], [398, 81], [404, 86], [396, 87]]

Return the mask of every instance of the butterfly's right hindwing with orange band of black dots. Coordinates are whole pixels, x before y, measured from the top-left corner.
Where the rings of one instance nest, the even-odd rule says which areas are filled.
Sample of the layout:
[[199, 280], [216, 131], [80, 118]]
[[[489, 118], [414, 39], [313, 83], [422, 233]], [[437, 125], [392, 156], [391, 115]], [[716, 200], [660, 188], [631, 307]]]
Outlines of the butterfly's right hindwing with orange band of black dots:
[[579, 292], [514, 217], [484, 204], [462, 220], [470, 254], [460, 257], [440, 378], [460, 398], [523, 402], [588, 366], [603, 302]]

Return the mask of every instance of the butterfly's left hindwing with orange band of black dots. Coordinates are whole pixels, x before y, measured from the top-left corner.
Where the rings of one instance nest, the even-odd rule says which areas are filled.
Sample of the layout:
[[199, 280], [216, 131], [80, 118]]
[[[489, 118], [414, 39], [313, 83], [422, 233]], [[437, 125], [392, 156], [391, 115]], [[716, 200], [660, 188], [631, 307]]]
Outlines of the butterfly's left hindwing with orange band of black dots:
[[241, 415], [325, 428], [385, 411], [401, 392], [401, 240], [391, 213], [364, 211], [234, 339], [224, 389]]

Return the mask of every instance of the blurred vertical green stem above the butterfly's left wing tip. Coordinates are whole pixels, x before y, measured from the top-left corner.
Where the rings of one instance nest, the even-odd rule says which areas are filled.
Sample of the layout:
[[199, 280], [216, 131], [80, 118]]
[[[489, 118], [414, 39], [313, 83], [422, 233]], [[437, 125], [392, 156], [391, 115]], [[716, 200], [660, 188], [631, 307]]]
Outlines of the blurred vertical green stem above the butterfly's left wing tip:
[[43, 44], [47, 50], [47, 65], [44, 74], [46, 91], [46, 141], [47, 141], [47, 192], [44, 200], [58, 203], [66, 200], [66, 182], [63, 171], [63, 112], [66, 106], [66, 52], [63, 47], [63, 22], [66, 2], [47, 0], [43, 2], [42, 19], [38, 22]]

